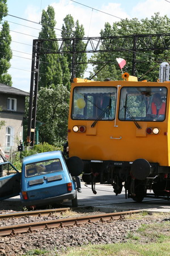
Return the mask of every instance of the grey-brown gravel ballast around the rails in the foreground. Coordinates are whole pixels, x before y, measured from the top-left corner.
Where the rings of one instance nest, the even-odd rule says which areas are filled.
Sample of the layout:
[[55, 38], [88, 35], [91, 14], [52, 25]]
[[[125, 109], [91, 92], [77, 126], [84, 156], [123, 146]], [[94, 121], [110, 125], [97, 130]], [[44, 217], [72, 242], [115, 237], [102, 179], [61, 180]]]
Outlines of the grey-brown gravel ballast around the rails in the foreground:
[[[51, 218], [53, 217], [43, 217], [43, 220]], [[19, 224], [27, 221], [37, 221], [37, 219], [33, 217], [27, 217], [26, 219], [24, 217], [15, 220], [1, 220], [1, 225], [14, 225], [16, 222]], [[39, 221], [42, 221], [42, 219], [39, 218]], [[67, 251], [68, 247], [83, 246], [89, 243], [97, 245], [127, 242], [128, 234], [135, 232], [141, 224], [164, 221], [167, 221], [164, 216], [152, 217], [147, 215], [137, 220], [94, 222], [80, 226], [45, 229], [33, 233], [0, 237], [0, 255], [24, 255], [30, 250], [45, 250], [48, 251], [46, 255], [56, 255], [59, 252]]]

